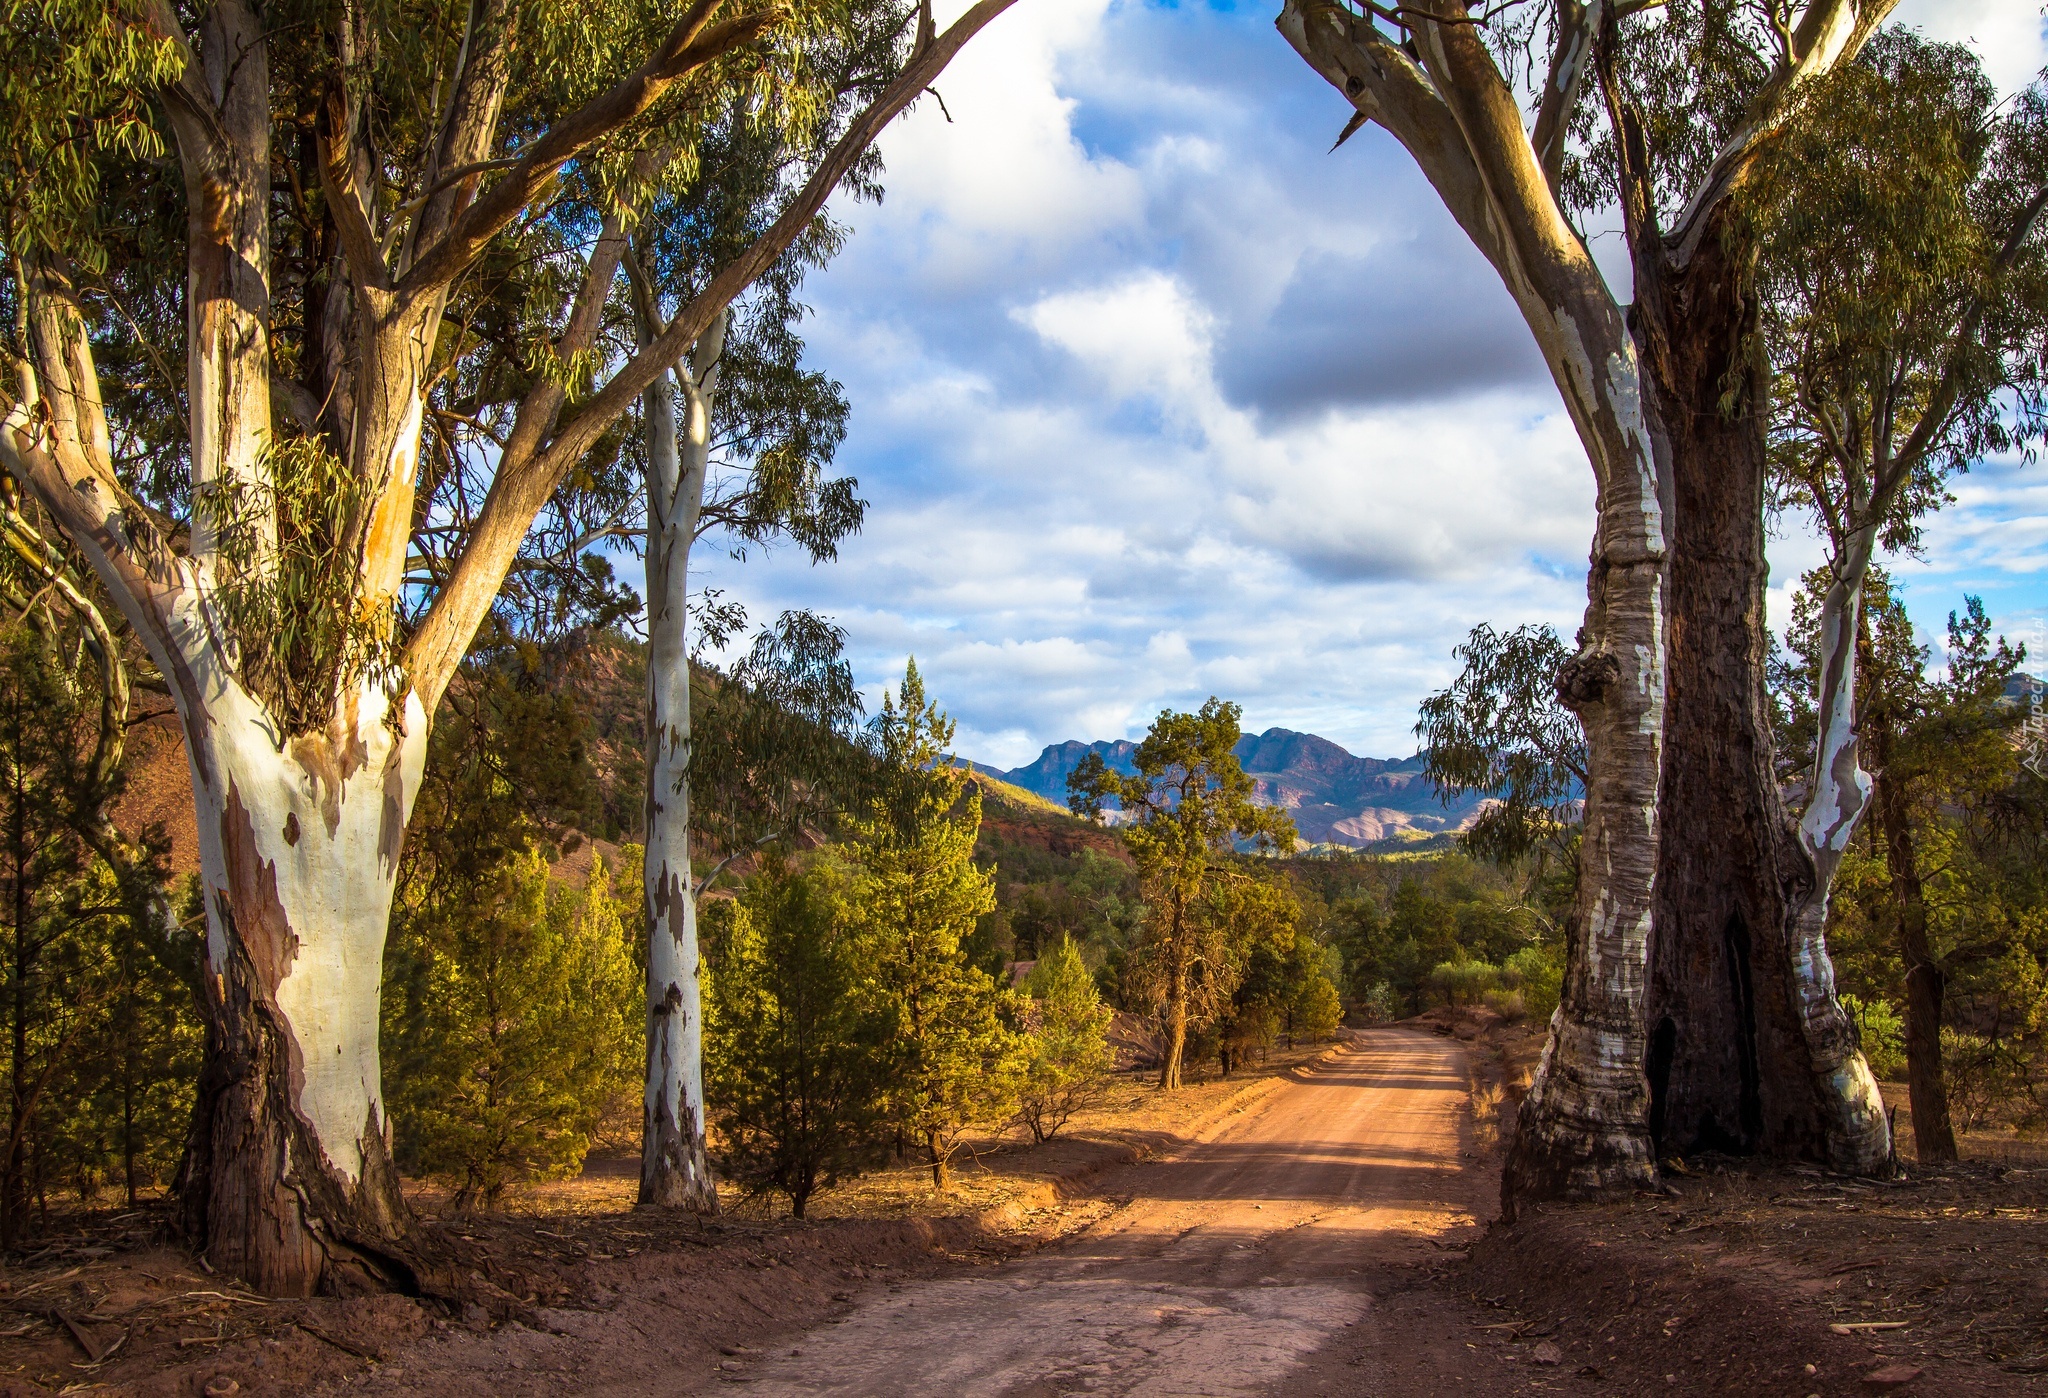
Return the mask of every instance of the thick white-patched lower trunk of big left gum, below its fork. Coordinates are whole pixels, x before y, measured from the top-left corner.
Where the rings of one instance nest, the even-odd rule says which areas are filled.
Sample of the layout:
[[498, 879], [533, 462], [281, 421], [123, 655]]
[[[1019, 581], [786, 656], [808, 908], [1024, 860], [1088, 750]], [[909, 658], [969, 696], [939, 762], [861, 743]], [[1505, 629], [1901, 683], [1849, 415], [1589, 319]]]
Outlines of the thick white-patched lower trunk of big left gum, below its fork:
[[[379, 1079], [379, 976], [426, 712], [377, 684], [352, 723], [276, 747], [223, 667], [174, 686], [199, 804], [207, 1066], [180, 1214], [274, 1296], [410, 1279]], [[205, 704], [193, 698], [203, 696]]]

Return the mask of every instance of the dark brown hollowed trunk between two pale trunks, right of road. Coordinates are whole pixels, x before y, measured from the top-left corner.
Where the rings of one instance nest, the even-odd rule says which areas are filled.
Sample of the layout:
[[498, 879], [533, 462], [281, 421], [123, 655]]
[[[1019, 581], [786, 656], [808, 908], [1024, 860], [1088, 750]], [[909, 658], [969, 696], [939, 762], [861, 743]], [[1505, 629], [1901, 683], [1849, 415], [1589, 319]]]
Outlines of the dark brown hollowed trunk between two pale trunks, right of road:
[[[1774, 772], [1765, 383], [1749, 268], [1724, 221], [1708, 219], [1683, 266], [1663, 250], [1638, 258], [1634, 323], [1653, 346], [1645, 379], [1671, 463], [1665, 837], [1645, 1003], [1651, 1134], [1661, 1152], [1864, 1171], [1884, 1163], [1888, 1140], [1821, 935], [1839, 847], [1823, 868]], [[1839, 747], [1839, 733], [1827, 745]]]

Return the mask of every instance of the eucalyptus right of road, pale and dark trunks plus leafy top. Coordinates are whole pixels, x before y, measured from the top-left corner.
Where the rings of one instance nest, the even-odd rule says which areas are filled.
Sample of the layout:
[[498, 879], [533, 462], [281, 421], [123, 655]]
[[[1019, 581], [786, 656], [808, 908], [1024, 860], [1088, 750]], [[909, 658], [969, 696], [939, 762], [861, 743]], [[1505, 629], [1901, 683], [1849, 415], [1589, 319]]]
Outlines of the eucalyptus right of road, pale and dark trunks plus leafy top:
[[[1499, 272], [1597, 485], [1585, 624], [1559, 671], [1587, 737], [1581, 878], [1509, 1199], [1651, 1183], [1659, 1144], [1888, 1159], [1827, 950], [1786, 907], [1812, 856], [1772, 772], [1765, 385], [1731, 194], [1890, 8], [1286, 0], [1278, 18], [1354, 106], [1346, 135], [1370, 121], [1401, 141]], [[1579, 223], [1616, 205], [1632, 305]], [[1659, 1083], [1651, 1017], [1673, 1028]]]

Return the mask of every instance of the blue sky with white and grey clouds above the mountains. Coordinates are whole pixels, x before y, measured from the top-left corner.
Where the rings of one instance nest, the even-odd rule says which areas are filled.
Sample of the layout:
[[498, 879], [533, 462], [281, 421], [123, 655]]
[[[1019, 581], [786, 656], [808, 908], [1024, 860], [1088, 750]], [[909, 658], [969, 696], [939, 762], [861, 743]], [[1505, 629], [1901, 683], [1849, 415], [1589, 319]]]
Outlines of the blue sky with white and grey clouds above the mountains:
[[[1329, 154], [1348, 104], [1274, 8], [1018, 0], [967, 47], [807, 287], [868, 526], [823, 567], [707, 544], [702, 581], [834, 616], [877, 698], [915, 653], [1001, 766], [1208, 694], [1403, 755], [1475, 622], [1571, 635], [1593, 491], [1542, 362], [1389, 137]], [[2032, 0], [1898, 16], [2007, 90], [2048, 61]], [[1894, 565], [1915, 618], [1976, 592], [2048, 657], [2048, 467], [1956, 495]], [[1817, 561], [1774, 538], [1774, 616]]]

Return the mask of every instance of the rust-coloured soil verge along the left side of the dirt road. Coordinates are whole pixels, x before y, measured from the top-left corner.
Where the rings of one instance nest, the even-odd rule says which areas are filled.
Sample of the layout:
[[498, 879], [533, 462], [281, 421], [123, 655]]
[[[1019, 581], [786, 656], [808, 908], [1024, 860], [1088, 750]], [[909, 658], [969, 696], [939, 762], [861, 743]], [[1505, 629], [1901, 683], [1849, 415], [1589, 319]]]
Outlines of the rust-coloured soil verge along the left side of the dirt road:
[[860, 1294], [1087, 1226], [1112, 1208], [1090, 1193], [1098, 1175], [1239, 1116], [1321, 1052], [1274, 1054], [1257, 1073], [1174, 1097], [1118, 1075], [1061, 1140], [977, 1142], [946, 1197], [903, 1167], [821, 1195], [813, 1222], [745, 1204], [711, 1224], [639, 1212], [637, 1161], [621, 1154], [594, 1156], [580, 1179], [516, 1191], [492, 1216], [451, 1216], [442, 1189], [412, 1183], [422, 1226], [446, 1230], [524, 1302], [506, 1318], [395, 1296], [266, 1300], [172, 1247], [156, 1202], [78, 1212], [37, 1253], [0, 1263], [0, 1398], [74, 1386], [152, 1398], [209, 1388], [215, 1398], [682, 1392], [788, 1333], [852, 1314]]

